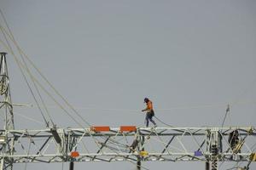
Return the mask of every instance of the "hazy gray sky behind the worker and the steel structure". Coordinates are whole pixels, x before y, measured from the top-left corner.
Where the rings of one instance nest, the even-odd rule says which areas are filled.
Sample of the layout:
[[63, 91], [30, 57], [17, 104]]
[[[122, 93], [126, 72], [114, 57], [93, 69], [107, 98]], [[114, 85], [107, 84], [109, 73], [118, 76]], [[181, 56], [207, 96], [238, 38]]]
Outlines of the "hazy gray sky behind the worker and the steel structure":
[[[220, 127], [228, 104], [225, 126], [255, 126], [256, 1], [0, 0], [0, 8], [26, 54], [91, 124], [143, 127], [140, 111], [149, 97], [156, 115], [177, 127]], [[13, 102], [34, 104], [9, 56]], [[77, 126], [47, 104], [58, 127]], [[36, 109], [15, 112], [42, 121]], [[15, 116], [15, 127], [44, 125]], [[134, 168], [121, 162], [76, 169], [85, 166]], [[200, 162], [143, 166], [204, 168]], [[35, 168], [61, 164], [27, 165]]]

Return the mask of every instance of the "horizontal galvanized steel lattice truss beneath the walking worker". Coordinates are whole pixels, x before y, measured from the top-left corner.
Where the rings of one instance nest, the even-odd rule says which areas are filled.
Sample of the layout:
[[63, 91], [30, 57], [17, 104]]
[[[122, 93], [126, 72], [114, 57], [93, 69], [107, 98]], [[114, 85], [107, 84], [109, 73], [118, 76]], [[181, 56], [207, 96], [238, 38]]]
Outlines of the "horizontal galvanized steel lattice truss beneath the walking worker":
[[[0, 159], [14, 163], [250, 161], [256, 141], [253, 127], [137, 127], [134, 131], [48, 128], [0, 132], [0, 150], [11, 139], [15, 141], [13, 154], [9, 155], [8, 150], [1, 152]], [[234, 137], [234, 132], [238, 136]]]

